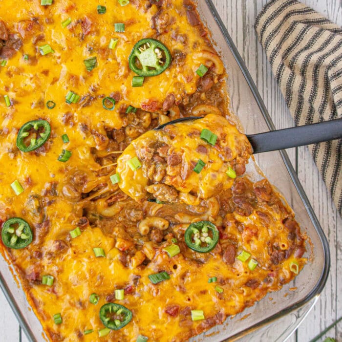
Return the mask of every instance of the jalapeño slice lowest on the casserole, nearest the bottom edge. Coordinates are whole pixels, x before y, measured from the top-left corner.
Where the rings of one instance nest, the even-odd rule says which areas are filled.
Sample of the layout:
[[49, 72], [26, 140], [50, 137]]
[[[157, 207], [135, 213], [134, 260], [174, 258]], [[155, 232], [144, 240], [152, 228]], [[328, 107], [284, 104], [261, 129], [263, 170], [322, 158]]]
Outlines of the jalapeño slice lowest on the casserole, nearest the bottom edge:
[[106, 328], [119, 330], [132, 319], [132, 312], [127, 307], [117, 303], [107, 303], [101, 306], [100, 320]]

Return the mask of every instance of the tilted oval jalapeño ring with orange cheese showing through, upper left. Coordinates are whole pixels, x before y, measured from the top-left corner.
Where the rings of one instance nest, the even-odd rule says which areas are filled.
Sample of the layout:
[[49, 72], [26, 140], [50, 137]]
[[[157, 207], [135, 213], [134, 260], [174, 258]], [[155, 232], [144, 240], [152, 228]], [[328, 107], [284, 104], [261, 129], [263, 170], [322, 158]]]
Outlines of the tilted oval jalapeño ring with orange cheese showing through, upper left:
[[17, 147], [22, 152], [38, 149], [45, 144], [51, 133], [46, 120], [33, 120], [23, 124], [18, 132]]

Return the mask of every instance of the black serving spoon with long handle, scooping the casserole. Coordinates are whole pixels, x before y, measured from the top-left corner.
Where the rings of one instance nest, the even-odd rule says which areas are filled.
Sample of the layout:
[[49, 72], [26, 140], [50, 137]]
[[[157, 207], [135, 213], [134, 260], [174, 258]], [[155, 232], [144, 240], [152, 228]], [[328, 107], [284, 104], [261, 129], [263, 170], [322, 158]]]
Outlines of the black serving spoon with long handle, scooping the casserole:
[[[179, 118], [158, 126], [159, 130], [167, 125], [181, 121], [202, 119], [201, 116]], [[253, 153], [283, 150], [291, 147], [310, 145], [342, 138], [342, 118], [291, 128], [271, 130], [269, 132], [246, 135], [252, 145]]]

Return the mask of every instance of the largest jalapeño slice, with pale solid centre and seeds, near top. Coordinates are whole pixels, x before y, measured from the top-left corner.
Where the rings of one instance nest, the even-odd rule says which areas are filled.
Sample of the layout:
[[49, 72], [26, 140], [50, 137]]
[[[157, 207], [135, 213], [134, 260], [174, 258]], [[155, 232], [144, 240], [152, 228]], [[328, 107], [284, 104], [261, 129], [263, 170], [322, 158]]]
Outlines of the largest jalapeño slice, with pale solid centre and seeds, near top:
[[139, 76], [157, 76], [171, 64], [171, 54], [163, 43], [145, 38], [134, 45], [128, 63]]

